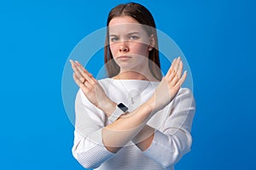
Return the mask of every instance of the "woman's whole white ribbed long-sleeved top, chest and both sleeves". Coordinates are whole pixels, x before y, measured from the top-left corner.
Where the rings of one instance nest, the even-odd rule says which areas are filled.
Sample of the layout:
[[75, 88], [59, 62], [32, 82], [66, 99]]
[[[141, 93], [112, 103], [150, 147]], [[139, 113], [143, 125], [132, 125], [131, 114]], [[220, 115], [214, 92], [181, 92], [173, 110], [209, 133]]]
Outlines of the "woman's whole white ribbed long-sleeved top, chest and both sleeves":
[[[115, 103], [122, 102], [133, 111], [146, 102], [160, 82], [143, 80], [99, 81], [105, 93]], [[102, 144], [102, 127], [109, 123], [108, 116], [86, 99], [82, 90], [75, 101], [76, 123], [73, 156], [86, 168], [97, 170], [174, 169], [174, 164], [190, 150], [195, 99], [189, 88], [181, 88], [169, 105], [148, 121], [155, 128], [154, 139], [147, 150], [139, 150], [131, 141], [116, 154]]]

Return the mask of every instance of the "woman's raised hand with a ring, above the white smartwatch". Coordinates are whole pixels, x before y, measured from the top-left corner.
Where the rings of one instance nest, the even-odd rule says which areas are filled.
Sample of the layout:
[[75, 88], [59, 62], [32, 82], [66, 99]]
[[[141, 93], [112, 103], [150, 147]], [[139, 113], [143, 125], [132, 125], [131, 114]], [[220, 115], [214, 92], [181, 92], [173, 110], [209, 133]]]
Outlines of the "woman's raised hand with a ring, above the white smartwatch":
[[111, 115], [111, 113], [108, 112], [112, 111], [111, 107], [114, 105], [113, 101], [111, 101], [105, 94], [100, 83], [96, 81], [90, 72], [86, 71], [84, 66], [81, 65], [78, 61], [73, 61], [70, 59], [70, 62], [74, 71], [73, 79], [79, 88], [82, 89], [87, 99], [90, 100], [90, 103], [96, 105], [97, 108], [105, 111], [105, 113], [107, 112], [107, 115]]

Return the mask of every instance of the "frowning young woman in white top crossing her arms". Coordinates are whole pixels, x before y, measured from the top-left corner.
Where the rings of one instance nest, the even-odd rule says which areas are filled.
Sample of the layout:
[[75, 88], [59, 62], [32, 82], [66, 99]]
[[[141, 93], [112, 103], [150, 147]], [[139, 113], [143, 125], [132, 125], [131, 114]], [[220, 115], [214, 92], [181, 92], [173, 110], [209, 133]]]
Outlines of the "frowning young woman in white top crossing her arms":
[[97, 81], [71, 60], [79, 85], [73, 156], [86, 168], [173, 169], [190, 150], [195, 101], [181, 88], [180, 57], [162, 77], [154, 19], [138, 3], [108, 14], [105, 64]]

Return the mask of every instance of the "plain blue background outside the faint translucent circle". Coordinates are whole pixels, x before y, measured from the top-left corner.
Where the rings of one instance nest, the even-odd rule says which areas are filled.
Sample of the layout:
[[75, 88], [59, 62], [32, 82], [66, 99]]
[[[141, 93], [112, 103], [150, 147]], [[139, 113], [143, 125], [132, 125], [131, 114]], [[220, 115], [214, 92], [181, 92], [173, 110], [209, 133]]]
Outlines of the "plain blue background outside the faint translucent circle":
[[[0, 3], [0, 169], [84, 169], [71, 154], [62, 70], [75, 45], [126, 2]], [[135, 2], [177, 42], [193, 73], [194, 141], [176, 170], [255, 169], [254, 1]]]

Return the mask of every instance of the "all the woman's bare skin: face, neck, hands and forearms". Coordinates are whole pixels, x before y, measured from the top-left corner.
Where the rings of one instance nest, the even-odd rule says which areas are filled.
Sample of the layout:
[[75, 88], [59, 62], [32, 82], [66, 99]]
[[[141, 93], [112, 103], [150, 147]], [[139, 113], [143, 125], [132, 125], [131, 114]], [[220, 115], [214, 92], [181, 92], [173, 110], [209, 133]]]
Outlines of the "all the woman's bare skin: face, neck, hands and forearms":
[[[149, 71], [148, 65], [145, 65], [148, 52], [154, 47], [154, 37], [148, 36], [142, 27], [134, 25], [129, 27], [127, 23], [138, 24], [137, 20], [130, 16], [116, 17], [109, 22], [110, 50], [113, 59], [120, 66], [119, 74], [113, 78], [157, 81]], [[70, 62], [74, 71], [73, 79], [87, 99], [104, 111], [106, 116], [111, 116], [117, 104], [108, 98], [99, 82], [78, 61], [70, 60]], [[157, 111], [172, 101], [186, 76], [180, 57], [174, 59], [166, 76], [162, 78], [154, 95], [148, 101], [135, 111], [120, 116], [117, 121], [102, 128], [105, 147], [116, 153], [132, 141], [140, 150], [147, 150], [154, 139], [155, 129], [146, 123]]]

